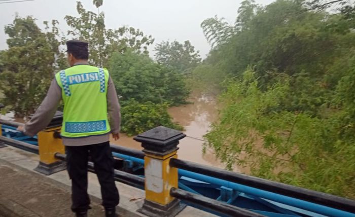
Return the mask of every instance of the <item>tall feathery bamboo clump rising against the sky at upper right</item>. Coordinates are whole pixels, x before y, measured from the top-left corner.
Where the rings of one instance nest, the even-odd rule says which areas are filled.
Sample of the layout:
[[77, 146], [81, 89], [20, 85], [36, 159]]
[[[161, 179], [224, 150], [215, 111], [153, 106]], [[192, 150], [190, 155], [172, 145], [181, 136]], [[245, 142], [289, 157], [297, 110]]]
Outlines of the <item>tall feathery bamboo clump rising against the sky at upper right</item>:
[[313, 11], [303, 2], [286, 0], [265, 7], [244, 1], [238, 13], [233, 35], [226, 37], [219, 30], [221, 26], [209, 26], [215, 38], [226, 40], [204, 61], [210, 68], [207, 71], [216, 70], [220, 78], [241, 78], [245, 68], [252, 65], [264, 90], [275, 77], [289, 75], [293, 92], [282, 102], [283, 108], [318, 115], [318, 107], [329, 104], [343, 75], [339, 67], [353, 55], [351, 13]]

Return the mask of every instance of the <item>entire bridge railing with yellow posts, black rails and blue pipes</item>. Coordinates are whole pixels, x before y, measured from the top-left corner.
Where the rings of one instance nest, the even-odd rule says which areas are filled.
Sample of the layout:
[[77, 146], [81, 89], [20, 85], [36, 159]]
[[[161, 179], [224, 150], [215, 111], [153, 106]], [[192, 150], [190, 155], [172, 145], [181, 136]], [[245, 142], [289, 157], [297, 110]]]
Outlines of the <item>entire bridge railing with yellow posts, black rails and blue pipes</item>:
[[[0, 128], [2, 124], [13, 127], [19, 125], [0, 119]], [[64, 147], [59, 130], [60, 128], [55, 126], [39, 133], [39, 146], [1, 135], [0, 141], [39, 153], [40, 169], [38, 167], [36, 170], [48, 175], [65, 168]], [[260, 213], [207, 198], [193, 193], [194, 191], [191, 193], [179, 189], [179, 177], [186, 176], [327, 216], [355, 216], [355, 201], [352, 200], [177, 159], [177, 144], [184, 137], [185, 134], [180, 131], [161, 126], [134, 137], [142, 143], [143, 151], [111, 146], [115, 157], [144, 164], [145, 177], [115, 170], [115, 180], [118, 182], [145, 189], [146, 199], [143, 207], [139, 209], [140, 212], [149, 216], [173, 216], [185, 207], [180, 203], [180, 200], [183, 200], [222, 214], [261, 216]], [[88, 169], [94, 172], [92, 162], [88, 163]]]

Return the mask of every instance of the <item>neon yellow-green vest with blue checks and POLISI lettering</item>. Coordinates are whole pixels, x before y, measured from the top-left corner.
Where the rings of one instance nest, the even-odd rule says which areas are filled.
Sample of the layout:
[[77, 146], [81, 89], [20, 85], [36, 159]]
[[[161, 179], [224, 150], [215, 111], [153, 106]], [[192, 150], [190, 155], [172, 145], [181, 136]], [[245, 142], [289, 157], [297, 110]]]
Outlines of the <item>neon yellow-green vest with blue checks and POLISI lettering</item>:
[[107, 115], [107, 69], [75, 65], [59, 71], [55, 79], [64, 101], [63, 137], [101, 135], [111, 131]]

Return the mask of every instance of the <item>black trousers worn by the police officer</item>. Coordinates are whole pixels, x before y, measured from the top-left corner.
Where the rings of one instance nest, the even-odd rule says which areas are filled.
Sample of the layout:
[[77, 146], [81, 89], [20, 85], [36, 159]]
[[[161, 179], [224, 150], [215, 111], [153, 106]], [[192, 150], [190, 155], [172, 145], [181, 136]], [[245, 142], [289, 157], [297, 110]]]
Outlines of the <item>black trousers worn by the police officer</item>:
[[120, 197], [114, 180], [114, 159], [109, 141], [89, 146], [66, 146], [66, 166], [72, 179], [73, 212], [90, 209], [88, 189], [88, 159], [94, 162], [94, 169], [101, 186], [102, 206], [115, 207]]

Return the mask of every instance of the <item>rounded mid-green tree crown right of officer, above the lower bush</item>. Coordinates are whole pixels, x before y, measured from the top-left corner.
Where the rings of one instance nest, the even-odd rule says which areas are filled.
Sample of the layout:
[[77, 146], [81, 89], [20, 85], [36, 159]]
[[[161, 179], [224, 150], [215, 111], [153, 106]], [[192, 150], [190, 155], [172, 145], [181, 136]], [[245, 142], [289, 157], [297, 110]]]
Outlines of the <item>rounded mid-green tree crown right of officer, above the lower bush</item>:
[[110, 59], [110, 75], [123, 100], [185, 103], [189, 90], [175, 70], [155, 63], [149, 56], [127, 50]]

